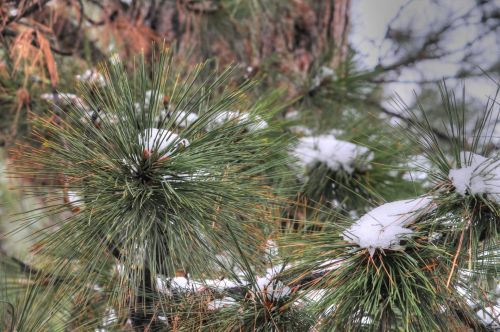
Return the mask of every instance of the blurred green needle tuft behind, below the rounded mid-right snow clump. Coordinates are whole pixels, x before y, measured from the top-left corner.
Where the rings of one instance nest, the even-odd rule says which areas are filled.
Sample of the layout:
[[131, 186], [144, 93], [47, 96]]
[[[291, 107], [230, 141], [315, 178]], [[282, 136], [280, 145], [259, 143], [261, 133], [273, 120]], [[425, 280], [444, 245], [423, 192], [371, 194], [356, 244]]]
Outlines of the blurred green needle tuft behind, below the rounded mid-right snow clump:
[[409, 140], [386, 133], [387, 124], [375, 115], [352, 118], [351, 124], [338, 130], [339, 134], [335, 136], [367, 147], [368, 156], [364, 156], [367, 160], [360, 157], [361, 166], [353, 165], [352, 172], [331, 170], [319, 162], [310, 165], [306, 168], [306, 180], [301, 189], [305, 197], [313, 202], [330, 203], [334, 200], [336, 205], [327, 205], [362, 213], [370, 203], [421, 194], [421, 184], [405, 178], [407, 168], [403, 165], [413, 150]]

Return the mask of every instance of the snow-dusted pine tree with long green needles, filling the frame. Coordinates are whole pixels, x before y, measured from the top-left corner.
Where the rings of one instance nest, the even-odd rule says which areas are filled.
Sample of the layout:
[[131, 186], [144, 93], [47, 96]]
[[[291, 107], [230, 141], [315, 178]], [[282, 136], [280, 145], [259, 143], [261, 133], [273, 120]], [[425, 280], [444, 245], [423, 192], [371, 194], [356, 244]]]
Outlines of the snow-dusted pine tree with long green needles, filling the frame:
[[386, 110], [349, 3], [2, 10], [1, 329], [498, 328], [497, 96]]

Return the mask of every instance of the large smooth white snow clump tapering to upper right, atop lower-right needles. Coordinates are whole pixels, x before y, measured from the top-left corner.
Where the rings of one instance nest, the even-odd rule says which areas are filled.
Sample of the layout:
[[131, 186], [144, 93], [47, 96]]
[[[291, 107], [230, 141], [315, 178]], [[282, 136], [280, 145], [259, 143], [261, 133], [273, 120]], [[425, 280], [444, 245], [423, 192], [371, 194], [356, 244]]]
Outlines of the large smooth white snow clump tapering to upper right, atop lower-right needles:
[[415, 221], [430, 204], [430, 197], [383, 204], [362, 216], [342, 236], [345, 241], [368, 249], [370, 256], [376, 249], [399, 249], [399, 241], [413, 233], [405, 226]]

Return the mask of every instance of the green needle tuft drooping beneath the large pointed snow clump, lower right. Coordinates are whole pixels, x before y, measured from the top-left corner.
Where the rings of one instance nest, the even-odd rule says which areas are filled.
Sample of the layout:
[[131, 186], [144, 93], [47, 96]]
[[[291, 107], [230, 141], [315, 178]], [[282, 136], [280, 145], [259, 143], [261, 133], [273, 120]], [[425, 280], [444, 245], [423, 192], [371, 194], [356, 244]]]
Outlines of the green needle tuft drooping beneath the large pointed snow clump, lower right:
[[400, 249], [368, 251], [339, 236], [348, 220], [332, 216], [321, 231], [282, 240], [284, 272], [302, 282], [304, 297], [315, 297], [311, 311], [320, 330], [446, 331], [476, 326], [473, 313], [454, 288], [446, 287], [452, 256], [427, 236], [428, 216], [411, 225], [415, 236]]

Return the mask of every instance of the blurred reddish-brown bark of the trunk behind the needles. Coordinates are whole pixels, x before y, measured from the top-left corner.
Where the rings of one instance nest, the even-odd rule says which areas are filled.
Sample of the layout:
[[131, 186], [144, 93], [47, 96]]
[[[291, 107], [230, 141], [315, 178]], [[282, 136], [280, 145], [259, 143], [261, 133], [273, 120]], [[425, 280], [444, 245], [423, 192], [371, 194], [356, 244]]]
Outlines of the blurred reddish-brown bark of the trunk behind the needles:
[[222, 65], [260, 68], [275, 57], [280, 70], [303, 76], [327, 53], [333, 68], [346, 58], [351, 0], [259, 3], [241, 19], [216, 0], [160, 1], [143, 12], [150, 28], [193, 63], [215, 57]]

